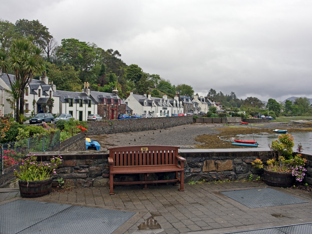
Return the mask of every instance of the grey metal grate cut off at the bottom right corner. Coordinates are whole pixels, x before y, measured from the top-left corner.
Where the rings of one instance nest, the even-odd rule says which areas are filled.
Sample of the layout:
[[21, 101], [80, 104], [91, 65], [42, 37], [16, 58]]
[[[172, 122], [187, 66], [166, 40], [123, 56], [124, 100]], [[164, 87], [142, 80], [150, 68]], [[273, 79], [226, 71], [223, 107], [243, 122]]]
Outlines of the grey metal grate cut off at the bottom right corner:
[[284, 227], [272, 227], [260, 230], [227, 232], [226, 234], [294, 234], [294, 233], [312, 233], [312, 224], [298, 224]]

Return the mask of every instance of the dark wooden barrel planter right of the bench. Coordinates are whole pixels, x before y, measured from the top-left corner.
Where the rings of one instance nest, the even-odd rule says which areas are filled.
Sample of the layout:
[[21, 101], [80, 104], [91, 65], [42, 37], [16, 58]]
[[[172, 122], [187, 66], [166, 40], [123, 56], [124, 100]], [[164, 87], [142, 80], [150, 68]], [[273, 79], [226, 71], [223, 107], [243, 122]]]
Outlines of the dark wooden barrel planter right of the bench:
[[273, 172], [264, 169], [264, 179], [267, 185], [288, 188], [293, 186], [295, 177], [290, 172]]

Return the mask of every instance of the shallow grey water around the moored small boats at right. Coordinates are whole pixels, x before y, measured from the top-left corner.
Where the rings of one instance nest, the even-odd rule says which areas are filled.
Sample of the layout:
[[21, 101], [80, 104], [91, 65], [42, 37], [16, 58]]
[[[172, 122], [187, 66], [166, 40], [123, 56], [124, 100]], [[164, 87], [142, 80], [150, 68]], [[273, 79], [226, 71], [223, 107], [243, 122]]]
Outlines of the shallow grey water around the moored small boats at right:
[[[312, 153], [312, 132], [295, 132], [291, 133], [294, 137], [294, 152], [297, 151], [298, 144], [302, 144], [302, 153]], [[269, 144], [271, 144], [272, 140], [276, 140], [280, 134], [273, 134], [273, 135], [261, 135], [257, 136], [252, 135], [250, 136], [236, 136], [235, 139], [237, 140], [244, 140], [244, 141], [255, 141], [258, 143], [258, 148], [268, 148]]]

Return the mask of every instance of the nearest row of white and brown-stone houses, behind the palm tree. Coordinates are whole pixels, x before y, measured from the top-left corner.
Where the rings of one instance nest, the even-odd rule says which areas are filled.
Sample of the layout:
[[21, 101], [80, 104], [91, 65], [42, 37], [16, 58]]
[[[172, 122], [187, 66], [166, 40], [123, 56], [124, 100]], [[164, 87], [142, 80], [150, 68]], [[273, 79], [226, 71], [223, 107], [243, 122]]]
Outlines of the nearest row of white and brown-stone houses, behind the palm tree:
[[[9, 75], [14, 80], [13, 75]], [[8, 96], [3, 89], [11, 90], [7, 74], [0, 73], [0, 95], [2, 103], [1, 114], [9, 114], [14, 109], [6, 100]], [[1, 89], [3, 88], [3, 89]], [[2, 92], [1, 92], [2, 91]], [[115, 92], [114, 92], [115, 91]], [[46, 103], [49, 97], [53, 98], [53, 114], [67, 113], [80, 121], [87, 120], [89, 114], [99, 114], [103, 119], [117, 119], [118, 114], [126, 113], [126, 104], [118, 97], [118, 91], [113, 93], [90, 91], [89, 84], [86, 83], [82, 92], [70, 92], [56, 90], [53, 82], [49, 82], [49, 77], [43, 72], [40, 80], [32, 79], [25, 91], [25, 115], [30, 116], [42, 112], [41, 105]], [[128, 112], [131, 109], [128, 108]]]

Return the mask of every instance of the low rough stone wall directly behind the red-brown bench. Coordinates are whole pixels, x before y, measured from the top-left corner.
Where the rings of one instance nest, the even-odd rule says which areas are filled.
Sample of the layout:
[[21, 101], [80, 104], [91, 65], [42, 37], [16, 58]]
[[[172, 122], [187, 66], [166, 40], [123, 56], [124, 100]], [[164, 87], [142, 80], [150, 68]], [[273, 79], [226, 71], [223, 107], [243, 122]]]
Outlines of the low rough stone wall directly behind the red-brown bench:
[[[185, 183], [189, 181], [243, 180], [250, 174], [263, 176], [263, 169], [255, 169], [251, 162], [260, 158], [271, 158], [269, 149], [180, 149], [179, 155], [186, 158], [184, 168]], [[52, 156], [52, 155], [51, 155]], [[39, 160], [48, 160], [51, 156], [39, 155]], [[63, 163], [57, 169], [53, 186], [57, 178], [63, 178], [65, 185], [76, 187], [101, 187], [109, 184], [109, 154], [62, 154]], [[312, 155], [303, 154], [307, 159], [306, 183], [312, 184]], [[174, 173], [151, 175], [152, 178], [173, 177]], [[139, 175], [120, 175], [114, 177], [119, 181], [138, 180]]]

